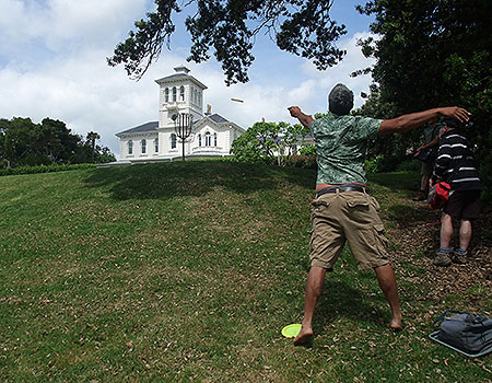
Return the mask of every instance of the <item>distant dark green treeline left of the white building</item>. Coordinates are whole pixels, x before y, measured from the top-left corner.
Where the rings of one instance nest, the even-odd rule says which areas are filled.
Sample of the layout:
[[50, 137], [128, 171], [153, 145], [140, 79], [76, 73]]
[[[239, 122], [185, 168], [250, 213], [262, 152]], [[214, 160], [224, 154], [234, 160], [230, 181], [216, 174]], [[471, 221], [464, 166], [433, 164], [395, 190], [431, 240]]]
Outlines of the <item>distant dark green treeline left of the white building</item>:
[[99, 138], [94, 131], [85, 138], [72, 134], [58, 119], [45, 118], [35, 124], [31, 118], [1, 118], [0, 169], [115, 161], [107, 147], [96, 143]]

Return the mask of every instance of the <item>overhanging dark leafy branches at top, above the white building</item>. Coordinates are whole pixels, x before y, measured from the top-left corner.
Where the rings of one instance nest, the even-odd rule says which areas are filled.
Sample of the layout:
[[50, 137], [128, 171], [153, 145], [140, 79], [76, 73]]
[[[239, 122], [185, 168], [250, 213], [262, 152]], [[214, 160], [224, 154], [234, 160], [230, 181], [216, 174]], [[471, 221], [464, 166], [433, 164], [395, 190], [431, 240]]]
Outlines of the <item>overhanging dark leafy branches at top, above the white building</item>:
[[[156, 10], [134, 23], [136, 31], [117, 45], [108, 65], [125, 63], [129, 76], [140, 79], [175, 32], [173, 14], [181, 12], [178, 0], [154, 0]], [[345, 26], [330, 19], [327, 0], [189, 0], [186, 27], [191, 35], [188, 60], [202, 62], [211, 51], [222, 63], [227, 85], [247, 82], [257, 35], [268, 35], [282, 50], [313, 59], [318, 69], [340, 61], [344, 55], [333, 42]]]

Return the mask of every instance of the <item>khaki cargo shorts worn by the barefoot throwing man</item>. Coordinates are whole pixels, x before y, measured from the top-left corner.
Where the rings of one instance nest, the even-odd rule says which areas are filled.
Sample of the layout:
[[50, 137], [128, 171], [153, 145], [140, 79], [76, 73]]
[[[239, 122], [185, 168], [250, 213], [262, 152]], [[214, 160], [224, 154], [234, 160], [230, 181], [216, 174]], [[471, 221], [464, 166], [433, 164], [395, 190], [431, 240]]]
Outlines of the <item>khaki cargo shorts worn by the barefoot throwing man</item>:
[[387, 265], [379, 204], [360, 192], [327, 193], [312, 202], [311, 266], [333, 269], [345, 241], [360, 269]]

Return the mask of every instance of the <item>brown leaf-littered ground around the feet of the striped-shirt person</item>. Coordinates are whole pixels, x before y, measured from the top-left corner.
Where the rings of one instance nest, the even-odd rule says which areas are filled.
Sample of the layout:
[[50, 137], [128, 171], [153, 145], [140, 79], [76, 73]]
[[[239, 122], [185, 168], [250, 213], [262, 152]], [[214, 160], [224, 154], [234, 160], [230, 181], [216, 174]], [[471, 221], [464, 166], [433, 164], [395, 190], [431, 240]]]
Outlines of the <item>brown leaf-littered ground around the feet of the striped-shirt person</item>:
[[[456, 303], [466, 307], [450, 309], [487, 313], [492, 291], [492, 218], [483, 213], [473, 222], [470, 255], [465, 265], [437, 267], [433, 258], [440, 245], [440, 217], [441, 213], [429, 209], [425, 202], [406, 204], [396, 227], [387, 231], [394, 244], [393, 264], [402, 280], [419, 287], [421, 295], [415, 297], [417, 300]], [[452, 246], [457, 246], [457, 241], [458, 223]]]

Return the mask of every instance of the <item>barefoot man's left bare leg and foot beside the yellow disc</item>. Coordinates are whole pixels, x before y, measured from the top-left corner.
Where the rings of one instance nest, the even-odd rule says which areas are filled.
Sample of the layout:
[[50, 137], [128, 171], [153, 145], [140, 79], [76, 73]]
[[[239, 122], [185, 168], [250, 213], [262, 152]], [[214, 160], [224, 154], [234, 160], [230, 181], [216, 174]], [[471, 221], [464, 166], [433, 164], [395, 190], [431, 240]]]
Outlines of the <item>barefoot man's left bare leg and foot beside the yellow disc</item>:
[[304, 345], [313, 336], [313, 315], [323, 291], [325, 282], [326, 269], [313, 266], [307, 276], [306, 292], [304, 295], [304, 318], [302, 328], [294, 339], [294, 345]]

